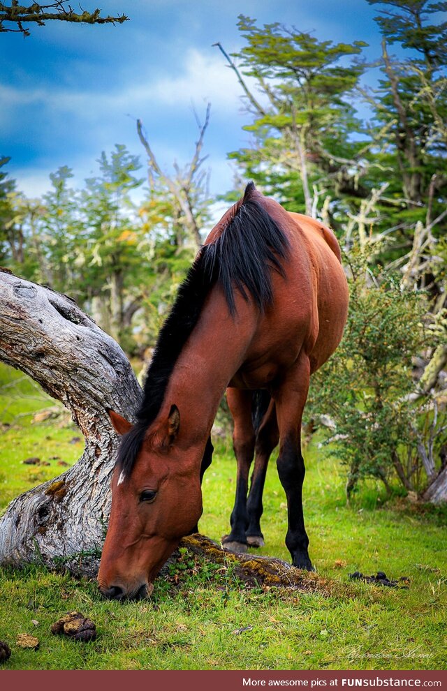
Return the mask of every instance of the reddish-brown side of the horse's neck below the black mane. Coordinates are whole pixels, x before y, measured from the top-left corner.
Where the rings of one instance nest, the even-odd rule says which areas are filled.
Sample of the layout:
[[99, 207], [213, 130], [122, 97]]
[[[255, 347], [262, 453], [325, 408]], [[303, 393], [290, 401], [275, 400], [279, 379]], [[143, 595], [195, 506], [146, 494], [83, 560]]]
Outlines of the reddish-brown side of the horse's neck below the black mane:
[[244, 361], [256, 330], [254, 308], [236, 295], [231, 317], [223, 295], [214, 290], [170, 377], [163, 408], [175, 404], [191, 443], [208, 438], [228, 382]]

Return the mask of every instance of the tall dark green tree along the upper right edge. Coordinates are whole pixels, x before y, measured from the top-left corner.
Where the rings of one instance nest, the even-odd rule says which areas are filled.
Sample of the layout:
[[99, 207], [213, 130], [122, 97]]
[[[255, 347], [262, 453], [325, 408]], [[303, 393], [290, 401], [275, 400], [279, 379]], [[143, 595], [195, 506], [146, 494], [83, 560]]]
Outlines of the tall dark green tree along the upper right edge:
[[[384, 258], [403, 265], [413, 250], [413, 279], [427, 283], [419, 265], [435, 253], [436, 239], [447, 227], [447, 22], [438, 21], [447, 3], [368, 1], [379, 9], [376, 22], [383, 34], [379, 88], [364, 91], [374, 114], [369, 177], [374, 186], [388, 183], [377, 205], [377, 230], [395, 228]], [[393, 44], [400, 46], [399, 58], [390, 54]], [[421, 224], [427, 228], [423, 238]], [[422, 239], [418, 255], [415, 235]]]

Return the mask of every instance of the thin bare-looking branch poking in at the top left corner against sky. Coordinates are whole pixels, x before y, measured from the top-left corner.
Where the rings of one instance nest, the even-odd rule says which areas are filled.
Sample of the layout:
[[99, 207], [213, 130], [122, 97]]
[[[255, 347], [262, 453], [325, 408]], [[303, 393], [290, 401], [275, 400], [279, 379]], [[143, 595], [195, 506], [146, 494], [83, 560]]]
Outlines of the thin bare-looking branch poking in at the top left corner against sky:
[[[34, 2], [28, 6], [19, 5], [18, 0], [11, 0], [10, 5], [0, 2], [0, 32], [13, 31], [29, 36], [29, 29], [24, 27], [24, 24], [32, 22], [43, 27], [45, 22], [50, 20], [84, 24], [122, 24], [127, 22], [129, 17], [124, 14], [119, 17], [101, 17], [101, 10], [98, 9], [93, 12], [84, 10], [82, 13], [76, 13], [68, 4], [68, 0], [55, 0], [48, 5]], [[10, 24], [15, 24], [17, 29], [13, 29]]]

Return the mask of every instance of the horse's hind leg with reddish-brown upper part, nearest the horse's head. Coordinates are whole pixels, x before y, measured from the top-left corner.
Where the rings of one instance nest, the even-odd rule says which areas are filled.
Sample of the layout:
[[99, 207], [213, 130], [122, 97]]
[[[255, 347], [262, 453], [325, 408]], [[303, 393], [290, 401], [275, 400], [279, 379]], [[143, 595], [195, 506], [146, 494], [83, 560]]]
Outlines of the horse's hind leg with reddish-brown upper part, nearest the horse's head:
[[231, 532], [223, 535], [223, 547], [230, 551], [247, 551], [247, 489], [249, 470], [254, 456], [255, 433], [251, 421], [251, 397], [249, 391], [227, 389], [227, 401], [233, 416], [233, 448], [237, 461], [236, 498], [231, 512]]

